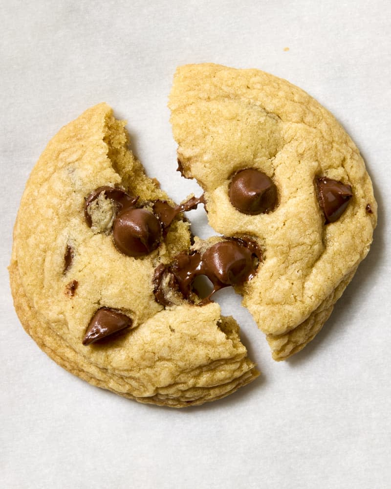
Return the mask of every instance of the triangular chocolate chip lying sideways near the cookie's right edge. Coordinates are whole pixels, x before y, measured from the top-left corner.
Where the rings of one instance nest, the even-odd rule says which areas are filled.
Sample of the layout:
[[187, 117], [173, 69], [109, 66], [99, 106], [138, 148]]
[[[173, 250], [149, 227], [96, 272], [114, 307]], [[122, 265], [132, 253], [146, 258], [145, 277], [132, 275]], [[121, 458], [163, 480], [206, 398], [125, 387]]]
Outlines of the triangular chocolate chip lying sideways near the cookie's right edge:
[[325, 215], [326, 224], [337, 221], [345, 212], [353, 194], [351, 185], [332, 178], [321, 177], [317, 181], [318, 200]]

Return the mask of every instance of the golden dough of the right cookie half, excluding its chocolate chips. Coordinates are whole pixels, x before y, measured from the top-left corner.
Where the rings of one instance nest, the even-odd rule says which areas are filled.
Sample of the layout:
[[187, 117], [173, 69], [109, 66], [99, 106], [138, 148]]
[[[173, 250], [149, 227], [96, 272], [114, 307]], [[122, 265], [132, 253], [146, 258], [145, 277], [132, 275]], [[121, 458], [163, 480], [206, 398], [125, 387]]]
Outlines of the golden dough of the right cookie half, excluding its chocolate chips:
[[[262, 249], [256, 276], [236, 289], [273, 358], [285, 359], [320, 331], [369, 251], [377, 205], [364, 161], [316, 100], [260, 70], [179, 67], [169, 107], [179, 166], [203, 187], [210, 225]], [[247, 169], [274, 182], [273, 208], [253, 215], [230, 199], [233, 179]], [[327, 224], [322, 178], [352, 189]]]

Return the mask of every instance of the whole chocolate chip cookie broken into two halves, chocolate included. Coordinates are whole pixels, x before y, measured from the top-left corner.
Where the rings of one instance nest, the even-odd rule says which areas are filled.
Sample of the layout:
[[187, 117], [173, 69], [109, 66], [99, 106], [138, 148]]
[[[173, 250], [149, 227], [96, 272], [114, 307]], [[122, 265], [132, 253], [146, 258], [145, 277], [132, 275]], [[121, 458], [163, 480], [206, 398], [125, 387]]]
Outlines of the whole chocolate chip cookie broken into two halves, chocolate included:
[[[182, 407], [259, 375], [213, 293], [233, 286], [273, 358], [288, 358], [368, 253], [377, 205], [348, 134], [284, 80], [180, 67], [170, 108], [178, 169], [204, 194], [170, 200], [128, 149], [125, 123], [99, 104], [33, 169], [10, 280], [23, 327], [57, 363], [130, 399]], [[199, 204], [220, 236], [191, 234], [182, 212]]]

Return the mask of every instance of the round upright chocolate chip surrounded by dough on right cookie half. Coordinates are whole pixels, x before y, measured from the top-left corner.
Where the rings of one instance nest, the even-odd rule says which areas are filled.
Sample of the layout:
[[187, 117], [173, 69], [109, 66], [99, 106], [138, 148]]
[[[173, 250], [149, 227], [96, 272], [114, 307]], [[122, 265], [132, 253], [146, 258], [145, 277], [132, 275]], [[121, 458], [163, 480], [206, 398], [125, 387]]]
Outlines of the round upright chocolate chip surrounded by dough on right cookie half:
[[263, 172], [248, 168], [234, 175], [228, 196], [232, 205], [243, 214], [267, 214], [277, 204], [277, 187]]

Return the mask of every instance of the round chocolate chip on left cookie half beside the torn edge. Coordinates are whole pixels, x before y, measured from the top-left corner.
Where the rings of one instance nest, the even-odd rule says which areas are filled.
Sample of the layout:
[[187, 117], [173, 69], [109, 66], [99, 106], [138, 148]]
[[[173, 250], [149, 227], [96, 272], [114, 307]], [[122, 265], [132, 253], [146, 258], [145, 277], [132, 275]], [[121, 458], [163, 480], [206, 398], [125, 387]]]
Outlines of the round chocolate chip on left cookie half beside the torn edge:
[[115, 218], [113, 238], [117, 248], [127, 256], [148, 255], [160, 244], [160, 222], [146, 209], [125, 209]]

